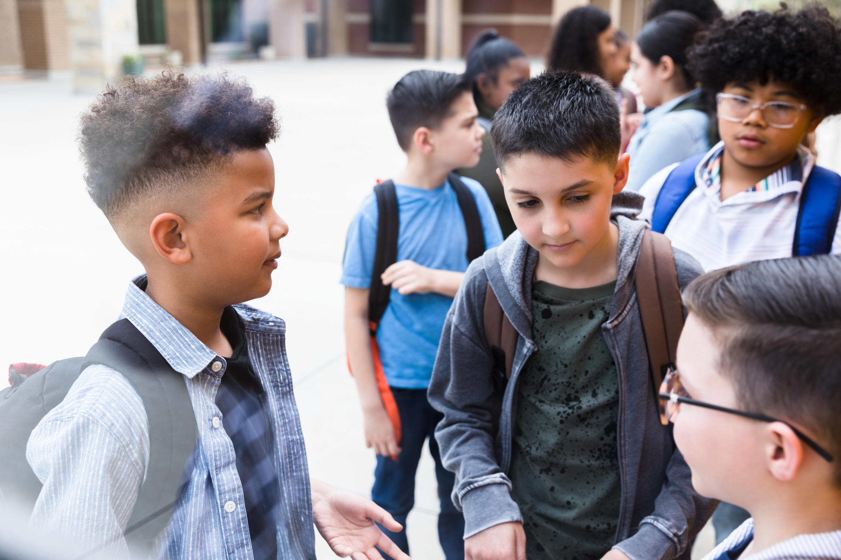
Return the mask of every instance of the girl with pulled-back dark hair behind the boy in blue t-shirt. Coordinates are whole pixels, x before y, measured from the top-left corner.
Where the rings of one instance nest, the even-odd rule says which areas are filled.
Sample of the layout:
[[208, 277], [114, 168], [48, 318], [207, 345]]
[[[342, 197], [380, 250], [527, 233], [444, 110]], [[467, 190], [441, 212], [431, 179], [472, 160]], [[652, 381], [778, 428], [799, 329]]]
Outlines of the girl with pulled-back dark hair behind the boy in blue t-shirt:
[[473, 41], [464, 73], [473, 80], [473, 99], [476, 107], [479, 107], [479, 124], [487, 134], [482, 139], [479, 165], [460, 169], [458, 174], [479, 181], [484, 190], [488, 191], [502, 234], [507, 238], [516, 226], [505, 202], [502, 183], [496, 175], [496, 159], [490, 144], [490, 123], [502, 102], [529, 79], [529, 62], [514, 41], [500, 37], [496, 29], [487, 29]]

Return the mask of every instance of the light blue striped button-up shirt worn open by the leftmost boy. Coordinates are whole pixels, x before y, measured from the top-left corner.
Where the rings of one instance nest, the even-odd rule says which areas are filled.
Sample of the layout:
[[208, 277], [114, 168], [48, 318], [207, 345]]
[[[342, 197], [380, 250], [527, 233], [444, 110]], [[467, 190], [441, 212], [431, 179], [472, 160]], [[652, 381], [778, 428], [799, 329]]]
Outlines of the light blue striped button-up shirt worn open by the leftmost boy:
[[[121, 317], [184, 375], [198, 425], [197, 459], [187, 489], [156, 539], [161, 557], [252, 560], [234, 446], [214, 403], [225, 358], [146, 296], [142, 285], [145, 276], [129, 285]], [[267, 391], [272, 418], [272, 460], [281, 500], [278, 557], [315, 560], [309, 469], [285, 324], [251, 306], [235, 309], [245, 322], [251, 365]], [[103, 365], [88, 367], [29, 437], [26, 458], [44, 484], [32, 522], [89, 547], [104, 547], [114, 557], [128, 556], [123, 531], [143, 483], [149, 448], [140, 395], [119, 372]]]

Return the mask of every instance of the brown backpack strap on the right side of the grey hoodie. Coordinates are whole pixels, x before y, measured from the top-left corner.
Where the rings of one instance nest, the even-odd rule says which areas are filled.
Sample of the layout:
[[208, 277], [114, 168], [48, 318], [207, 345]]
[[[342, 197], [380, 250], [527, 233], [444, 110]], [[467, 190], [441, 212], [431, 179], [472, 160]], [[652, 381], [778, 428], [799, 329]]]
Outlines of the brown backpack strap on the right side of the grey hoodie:
[[648, 230], [643, 235], [635, 284], [654, 390], [659, 391], [666, 369], [674, 364], [683, 329], [672, 243], [663, 234]]

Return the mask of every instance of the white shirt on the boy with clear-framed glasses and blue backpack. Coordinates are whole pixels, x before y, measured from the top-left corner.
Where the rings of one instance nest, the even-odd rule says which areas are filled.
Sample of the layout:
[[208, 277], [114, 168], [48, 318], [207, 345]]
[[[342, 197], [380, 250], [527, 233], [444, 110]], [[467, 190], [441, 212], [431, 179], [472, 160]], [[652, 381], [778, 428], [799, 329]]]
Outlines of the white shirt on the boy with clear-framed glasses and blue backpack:
[[[696, 189], [674, 213], [664, 232], [666, 237], [673, 247], [698, 259], [707, 271], [753, 260], [791, 257], [803, 181], [812, 172], [815, 157], [803, 149], [793, 164], [802, 165], [801, 173], [783, 168], [754, 189], [722, 201], [717, 176], [704, 175], [723, 149], [723, 142], [717, 144], [698, 164]], [[651, 222], [654, 202], [677, 165], [658, 171], [640, 189], [645, 196], [641, 218]], [[841, 253], [841, 227], [835, 230], [831, 252]]]

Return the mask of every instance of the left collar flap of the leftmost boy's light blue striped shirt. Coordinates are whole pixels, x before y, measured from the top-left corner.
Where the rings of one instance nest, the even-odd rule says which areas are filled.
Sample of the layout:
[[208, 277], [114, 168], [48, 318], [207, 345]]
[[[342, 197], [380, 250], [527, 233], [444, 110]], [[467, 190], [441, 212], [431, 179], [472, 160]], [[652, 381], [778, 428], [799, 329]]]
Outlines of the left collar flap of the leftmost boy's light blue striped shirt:
[[[131, 280], [120, 318], [128, 319], [179, 374], [193, 378], [209, 369], [216, 353], [146, 295], [146, 275]], [[225, 364], [225, 361], [222, 360]]]

